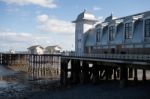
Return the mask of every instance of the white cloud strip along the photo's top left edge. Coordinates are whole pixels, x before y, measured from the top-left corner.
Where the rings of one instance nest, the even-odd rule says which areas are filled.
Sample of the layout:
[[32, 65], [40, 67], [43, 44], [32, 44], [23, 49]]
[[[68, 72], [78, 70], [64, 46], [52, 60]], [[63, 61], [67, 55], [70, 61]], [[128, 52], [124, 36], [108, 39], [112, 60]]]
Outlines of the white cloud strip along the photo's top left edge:
[[54, 0], [0, 0], [7, 4], [16, 4], [20, 6], [24, 5], [38, 5], [41, 7], [47, 7], [47, 8], [56, 8], [57, 5], [54, 3]]

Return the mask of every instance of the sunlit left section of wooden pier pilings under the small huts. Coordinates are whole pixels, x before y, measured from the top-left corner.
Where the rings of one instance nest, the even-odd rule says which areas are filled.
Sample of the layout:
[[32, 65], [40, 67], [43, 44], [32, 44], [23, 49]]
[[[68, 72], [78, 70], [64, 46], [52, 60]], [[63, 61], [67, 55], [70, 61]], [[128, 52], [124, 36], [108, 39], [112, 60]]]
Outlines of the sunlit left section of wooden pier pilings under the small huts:
[[60, 56], [36, 54], [0, 54], [0, 65], [30, 74], [32, 79], [59, 79]]

